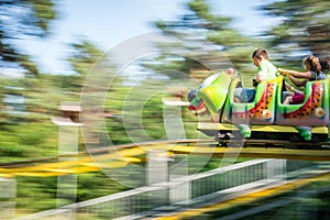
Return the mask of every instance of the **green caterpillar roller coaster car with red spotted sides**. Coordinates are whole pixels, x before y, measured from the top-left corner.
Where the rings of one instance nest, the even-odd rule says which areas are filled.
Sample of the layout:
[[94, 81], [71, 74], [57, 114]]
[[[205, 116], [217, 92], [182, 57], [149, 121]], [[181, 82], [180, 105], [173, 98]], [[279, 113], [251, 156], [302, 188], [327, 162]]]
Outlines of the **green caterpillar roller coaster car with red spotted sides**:
[[211, 117], [211, 122], [200, 122], [198, 130], [219, 142], [235, 136], [289, 143], [328, 142], [329, 82], [329, 76], [308, 81], [302, 103], [283, 105], [286, 88], [284, 77], [278, 76], [260, 82], [252, 102], [240, 103], [234, 101], [234, 90], [242, 85], [240, 77], [222, 72], [188, 92], [188, 109], [196, 116]]

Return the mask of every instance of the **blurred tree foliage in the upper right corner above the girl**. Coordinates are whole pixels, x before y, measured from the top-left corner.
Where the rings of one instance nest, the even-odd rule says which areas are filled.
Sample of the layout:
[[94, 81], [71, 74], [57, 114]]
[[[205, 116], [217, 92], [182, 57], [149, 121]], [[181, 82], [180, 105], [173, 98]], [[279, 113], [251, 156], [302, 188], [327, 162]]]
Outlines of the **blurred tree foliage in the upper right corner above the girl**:
[[330, 57], [330, 1], [285, 0], [260, 9], [280, 21], [264, 34], [272, 36], [271, 46], [278, 51], [283, 61], [301, 63], [301, 56], [310, 53], [321, 58]]

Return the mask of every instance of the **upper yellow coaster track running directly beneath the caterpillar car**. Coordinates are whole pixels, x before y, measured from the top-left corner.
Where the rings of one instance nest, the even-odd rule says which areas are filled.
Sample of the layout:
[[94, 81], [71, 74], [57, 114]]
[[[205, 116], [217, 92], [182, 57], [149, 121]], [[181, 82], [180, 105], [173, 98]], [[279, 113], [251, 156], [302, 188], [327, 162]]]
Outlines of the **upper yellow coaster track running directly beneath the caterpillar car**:
[[[266, 147], [267, 143], [288, 144], [287, 142], [274, 142], [268, 140], [230, 140], [228, 143], [239, 143], [235, 147], [218, 147], [215, 140], [177, 140], [157, 141], [147, 143], [133, 143], [117, 146], [98, 147], [53, 157], [36, 158], [23, 162], [1, 163], [0, 176], [59, 176], [67, 174], [80, 174], [100, 169], [124, 167], [130, 163], [142, 163], [150, 150], [163, 150], [175, 154], [189, 154], [207, 157], [250, 157], [250, 158], [288, 158], [300, 161], [330, 161], [330, 148], [301, 150], [295, 143], [296, 148]], [[242, 147], [243, 144], [250, 144]], [[302, 143], [301, 143], [302, 144]], [[320, 143], [318, 143], [320, 144]], [[305, 143], [306, 145], [306, 143]], [[322, 144], [323, 145], [323, 144]], [[324, 145], [329, 145], [326, 143]]]

